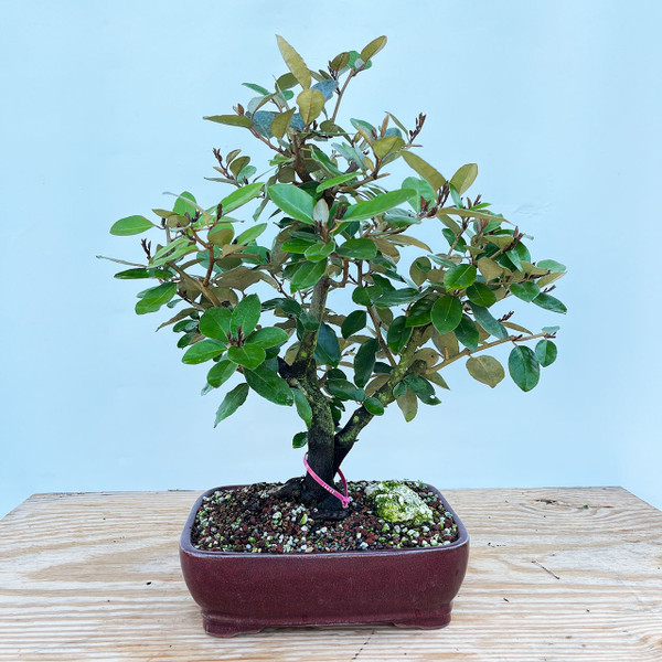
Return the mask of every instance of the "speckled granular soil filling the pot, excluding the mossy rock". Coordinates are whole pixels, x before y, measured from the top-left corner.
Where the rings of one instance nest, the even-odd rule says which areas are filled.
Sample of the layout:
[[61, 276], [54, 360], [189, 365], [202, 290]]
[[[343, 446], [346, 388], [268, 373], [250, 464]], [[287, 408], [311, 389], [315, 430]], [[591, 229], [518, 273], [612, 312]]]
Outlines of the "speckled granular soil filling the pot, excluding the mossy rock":
[[191, 535], [197, 549], [268, 554], [439, 547], [458, 537], [441, 500], [423, 483], [405, 481], [429, 505], [431, 522], [413, 525], [378, 517], [367, 481], [348, 483], [352, 499], [339, 521], [316, 520], [316, 509], [274, 495], [280, 483], [217, 490], [202, 502]]

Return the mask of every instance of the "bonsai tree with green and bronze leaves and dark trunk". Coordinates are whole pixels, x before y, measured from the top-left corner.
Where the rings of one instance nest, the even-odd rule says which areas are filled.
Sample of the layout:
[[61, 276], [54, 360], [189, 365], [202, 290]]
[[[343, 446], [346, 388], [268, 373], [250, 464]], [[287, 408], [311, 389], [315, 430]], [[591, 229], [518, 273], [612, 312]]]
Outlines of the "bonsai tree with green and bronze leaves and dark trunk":
[[[341, 125], [348, 87], [385, 36], [317, 72], [277, 39], [289, 71], [271, 88], [245, 83], [255, 94], [246, 106], [205, 118], [250, 134], [268, 164], [214, 149], [218, 204], [184, 192], [172, 210], [152, 210], [156, 220], [115, 223], [114, 235], [158, 235], [141, 241], [142, 264], [115, 260], [131, 267], [116, 278], [158, 281], [138, 293], [136, 312], [177, 310], [161, 327], [179, 334], [184, 363], [209, 366], [203, 394], [238, 373], [215, 425], [249, 391], [292, 407], [305, 424], [293, 446], [307, 446], [310, 468], [333, 485], [367, 424], [393, 403], [406, 421], [419, 403], [438, 405], [441, 372], [457, 361], [494, 387], [505, 370], [491, 352], [508, 344], [511, 377], [532, 389], [556, 359], [558, 327], [532, 332], [501, 302], [566, 312], [549, 293], [565, 267], [534, 261], [532, 237], [467, 195], [474, 163], [447, 179], [418, 156], [425, 115], [412, 128], [391, 113]], [[406, 177], [388, 188], [393, 169]], [[434, 246], [416, 237], [424, 225], [438, 234]], [[308, 472], [282, 493], [330, 515], [341, 508]]]

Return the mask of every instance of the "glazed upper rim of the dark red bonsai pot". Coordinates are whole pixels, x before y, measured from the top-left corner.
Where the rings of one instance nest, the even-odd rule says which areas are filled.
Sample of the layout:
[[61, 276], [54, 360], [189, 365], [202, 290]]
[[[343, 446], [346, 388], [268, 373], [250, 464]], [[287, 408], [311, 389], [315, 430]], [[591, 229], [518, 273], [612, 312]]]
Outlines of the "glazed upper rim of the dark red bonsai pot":
[[[437, 496], [439, 496], [441, 499], [441, 502], [444, 503], [446, 510], [452, 515], [453, 522], [458, 526], [458, 538], [456, 541], [453, 541], [452, 543], [450, 543], [450, 545], [440, 545], [438, 547], [409, 547], [406, 549], [396, 549], [396, 548], [392, 547], [389, 549], [348, 549], [345, 552], [311, 552], [309, 554], [301, 554], [301, 553], [256, 554], [253, 552], [223, 552], [221, 549], [199, 549], [197, 547], [194, 547], [193, 543], [191, 542], [191, 534], [193, 532], [193, 526], [195, 524], [195, 515], [197, 514], [197, 511], [200, 510], [202, 500], [205, 496], [213, 494], [217, 490], [241, 490], [242, 488], [246, 488], [246, 487], [249, 487], [249, 485], [247, 485], [247, 484], [221, 485], [218, 488], [212, 488], [211, 490], [203, 492], [195, 500], [195, 503], [193, 504], [193, 508], [191, 509], [191, 512], [189, 513], [189, 517], [186, 520], [186, 523], [182, 531], [182, 535], [180, 537], [180, 551], [189, 556], [194, 556], [196, 558], [214, 558], [214, 557], [228, 556], [228, 557], [233, 557], [233, 558], [237, 558], [237, 557], [256, 558], [256, 559], [257, 558], [270, 558], [271, 560], [275, 558], [279, 558], [279, 559], [282, 559], [282, 558], [297, 558], [297, 559], [318, 558], [319, 559], [320, 557], [333, 557], [333, 558], [345, 557], [346, 558], [346, 557], [354, 557], [356, 555], [363, 556], [363, 557], [370, 557], [370, 556], [375, 556], [375, 555], [380, 556], [383, 554], [388, 554], [388, 555], [434, 554], [434, 553], [440, 553], [440, 552], [450, 551], [450, 549], [457, 549], [458, 547], [461, 547], [469, 543], [469, 533], [467, 532], [467, 527], [465, 526], [462, 521], [458, 517], [457, 513], [452, 510], [452, 508], [448, 504], [444, 494], [441, 494], [441, 492], [439, 492], [439, 490], [437, 490], [437, 488], [435, 488], [434, 485], [430, 485], [429, 483], [423, 483], [423, 487], [429, 489], [431, 492], [434, 492], [435, 494], [437, 494]], [[260, 562], [257, 562], [257, 563], [260, 563]]]

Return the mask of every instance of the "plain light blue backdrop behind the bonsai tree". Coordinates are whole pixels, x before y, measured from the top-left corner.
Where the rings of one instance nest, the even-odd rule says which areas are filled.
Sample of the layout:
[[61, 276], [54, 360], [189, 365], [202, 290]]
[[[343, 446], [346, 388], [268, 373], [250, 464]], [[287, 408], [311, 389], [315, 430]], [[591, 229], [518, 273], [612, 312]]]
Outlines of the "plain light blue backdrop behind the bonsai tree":
[[[108, 234], [193, 191], [227, 191], [212, 147], [244, 134], [201, 120], [285, 71], [275, 33], [312, 67], [380, 34], [388, 46], [348, 115], [428, 115], [420, 152], [559, 259], [559, 357], [524, 394], [461, 364], [452, 391], [405, 425], [389, 409], [350, 478], [439, 488], [621, 484], [662, 506], [659, 202], [661, 6], [634, 0], [375, 3], [0, 3], [2, 285], [0, 514], [33, 492], [203, 489], [301, 471], [290, 410], [253, 394], [216, 430], [205, 371], [180, 363], [163, 316], [132, 312], [139, 284], [96, 254], [138, 257]], [[259, 152], [263, 153], [264, 152]], [[438, 241], [439, 227], [427, 229]], [[436, 234], [435, 234], [436, 233]], [[556, 293], [556, 292], [555, 292]], [[503, 354], [496, 354], [503, 356]]]

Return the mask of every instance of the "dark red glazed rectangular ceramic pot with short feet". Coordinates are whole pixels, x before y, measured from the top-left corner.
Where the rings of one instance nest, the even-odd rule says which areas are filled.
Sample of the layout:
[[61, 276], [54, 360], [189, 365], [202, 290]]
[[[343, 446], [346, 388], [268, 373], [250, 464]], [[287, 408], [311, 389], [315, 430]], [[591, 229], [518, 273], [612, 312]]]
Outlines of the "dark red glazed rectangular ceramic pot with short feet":
[[[238, 489], [243, 485], [232, 485]], [[428, 485], [430, 487], [430, 485]], [[231, 489], [232, 489], [231, 488]], [[370, 552], [250, 554], [206, 552], [191, 544], [191, 510], [180, 542], [186, 586], [215, 637], [264, 628], [393, 623], [442, 628], [450, 622], [469, 558], [469, 535], [458, 525], [450, 545]]]

